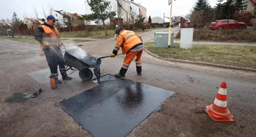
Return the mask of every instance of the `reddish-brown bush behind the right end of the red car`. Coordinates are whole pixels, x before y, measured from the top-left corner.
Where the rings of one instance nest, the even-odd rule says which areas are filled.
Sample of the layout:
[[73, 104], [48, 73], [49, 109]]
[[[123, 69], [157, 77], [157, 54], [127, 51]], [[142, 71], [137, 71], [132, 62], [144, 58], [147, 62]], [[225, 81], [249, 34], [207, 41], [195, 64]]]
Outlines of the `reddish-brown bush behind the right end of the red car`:
[[251, 12], [243, 12], [243, 13], [240, 13], [240, 12], [236, 12], [233, 16], [233, 19], [235, 21], [238, 21], [238, 22], [244, 22], [246, 23], [247, 25], [252, 25], [251, 24], [251, 20], [253, 18], [253, 15]]

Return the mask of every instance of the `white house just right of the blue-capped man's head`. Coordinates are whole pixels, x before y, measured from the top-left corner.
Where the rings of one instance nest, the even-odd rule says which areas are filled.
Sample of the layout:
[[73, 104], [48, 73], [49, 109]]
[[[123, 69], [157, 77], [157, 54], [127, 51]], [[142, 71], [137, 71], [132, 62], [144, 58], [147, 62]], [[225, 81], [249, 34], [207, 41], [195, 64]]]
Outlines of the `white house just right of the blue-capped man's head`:
[[[48, 14], [48, 15], [51, 15], [51, 14]], [[71, 20], [71, 16], [69, 16], [66, 12], [63, 12], [63, 10], [60, 10], [60, 11], [52, 10], [52, 15], [56, 19], [58, 19], [58, 22], [55, 22], [55, 26], [57, 28], [67, 27], [68, 22]]]

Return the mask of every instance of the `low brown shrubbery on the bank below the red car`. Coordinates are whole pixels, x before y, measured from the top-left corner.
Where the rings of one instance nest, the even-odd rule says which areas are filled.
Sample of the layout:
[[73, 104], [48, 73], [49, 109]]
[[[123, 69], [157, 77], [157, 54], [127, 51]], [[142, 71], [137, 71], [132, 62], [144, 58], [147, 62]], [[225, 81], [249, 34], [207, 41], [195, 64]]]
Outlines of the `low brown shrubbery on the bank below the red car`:
[[[212, 31], [208, 28], [194, 29], [193, 41], [255, 42], [256, 31], [251, 29], [224, 29]], [[180, 39], [180, 32], [176, 37]]]

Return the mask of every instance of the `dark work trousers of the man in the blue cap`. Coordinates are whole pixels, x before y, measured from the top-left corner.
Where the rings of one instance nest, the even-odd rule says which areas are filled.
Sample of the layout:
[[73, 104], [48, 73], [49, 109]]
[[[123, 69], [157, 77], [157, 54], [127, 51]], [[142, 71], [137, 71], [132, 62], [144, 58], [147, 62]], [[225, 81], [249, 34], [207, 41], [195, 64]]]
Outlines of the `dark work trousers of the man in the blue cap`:
[[[62, 51], [59, 47], [54, 49], [61, 57], [63, 57]], [[46, 60], [48, 62], [48, 66], [50, 67], [51, 73], [55, 74], [55, 78], [58, 79], [58, 65], [59, 65], [59, 70], [63, 77], [63, 75], [65, 75], [65, 61], [63, 59], [64, 57], [60, 58], [59, 55], [57, 55], [56, 52], [54, 52], [53, 49], [51, 48], [43, 48], [43, 51], [44, 51]]]

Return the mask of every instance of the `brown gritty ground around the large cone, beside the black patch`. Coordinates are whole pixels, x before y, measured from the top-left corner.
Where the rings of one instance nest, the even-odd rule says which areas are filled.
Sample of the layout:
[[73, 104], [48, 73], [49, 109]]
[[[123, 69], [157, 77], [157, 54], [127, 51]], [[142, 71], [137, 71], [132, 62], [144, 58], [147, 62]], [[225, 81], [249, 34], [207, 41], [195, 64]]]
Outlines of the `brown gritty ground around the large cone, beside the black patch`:
[[[214, 99], [213, 99], [214, 100]], [[152, 113], [128, 137], [249, 137], [255, 136], [251, 112], [228, 106], [235, 122], [214, 122], [204, 111], [212, 101], [176, 94], [165, 100], [162, 111]]]

